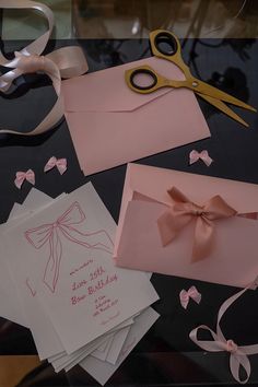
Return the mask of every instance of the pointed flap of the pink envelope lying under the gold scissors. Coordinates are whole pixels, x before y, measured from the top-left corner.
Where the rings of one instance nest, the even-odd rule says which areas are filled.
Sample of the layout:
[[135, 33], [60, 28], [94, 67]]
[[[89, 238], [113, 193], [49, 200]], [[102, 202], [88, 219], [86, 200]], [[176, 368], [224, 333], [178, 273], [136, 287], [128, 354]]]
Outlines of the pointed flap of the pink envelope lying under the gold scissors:
[[174, 92], [171, 87], [150, 94], [131, 91], [126, 84], [125, 71], [143, 64], [166, 78], [184, 80], [178, 67], [155, 57], [92, 72], [62, 82], [66, 112], [130, 112]]

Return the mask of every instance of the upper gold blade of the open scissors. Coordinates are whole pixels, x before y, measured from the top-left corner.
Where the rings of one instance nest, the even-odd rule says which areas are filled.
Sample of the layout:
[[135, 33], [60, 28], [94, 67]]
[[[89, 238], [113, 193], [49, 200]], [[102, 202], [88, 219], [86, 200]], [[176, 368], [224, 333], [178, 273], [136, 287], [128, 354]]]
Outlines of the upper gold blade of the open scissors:
[[196, 87], [196, 92], [201, 93], [203, 95], [208, 95], [210, 97], [221, 99], [224, 102], [227, 102], [228, 104], [233, 104], [235, 106], [243, 107], [244, 109], [251, 110], [251, 112], [257, 112], [257, 109], [250, 105], [247, 105], [245, 102], [235, 98], [233, 95], [230, 95], [225, 92], [222, 92], [221, 90], [211, 86], [210, 84], [196, 80], [198, 83]]

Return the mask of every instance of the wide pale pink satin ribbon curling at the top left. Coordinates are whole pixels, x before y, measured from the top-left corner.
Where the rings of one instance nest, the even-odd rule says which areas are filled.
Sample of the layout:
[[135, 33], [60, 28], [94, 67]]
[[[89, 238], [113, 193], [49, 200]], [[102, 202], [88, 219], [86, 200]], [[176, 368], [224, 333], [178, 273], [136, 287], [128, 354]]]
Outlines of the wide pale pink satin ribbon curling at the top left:
[[0, 77], [1, 92], [7, 93], [10, 90], [12, 82], [17, 77], [40, 71], [51, 79], [57, 94], [57, 101], [52, 109], [34, 130], [22, 133], [15, 130], [3, 129], [0, 130], [0, 133], [20, 136], [40, 134], [54, 128], [63, 116], [61, 78], [72, 78], [85, 73], [89, 69], [86, 59], [82, 49], [78, 46], [59, 48], [46, 56], [42, 56], [55, 24], [54, 14], [47, 5], [31, 0], [1, 0], [0, 8], [35, 9], [42, 12], [48, 20], [48, 31], [21, 51], [15, 51], [14, 59], [8, 60], [0, 51], [0, 66], [3, 66], [9, 70]]

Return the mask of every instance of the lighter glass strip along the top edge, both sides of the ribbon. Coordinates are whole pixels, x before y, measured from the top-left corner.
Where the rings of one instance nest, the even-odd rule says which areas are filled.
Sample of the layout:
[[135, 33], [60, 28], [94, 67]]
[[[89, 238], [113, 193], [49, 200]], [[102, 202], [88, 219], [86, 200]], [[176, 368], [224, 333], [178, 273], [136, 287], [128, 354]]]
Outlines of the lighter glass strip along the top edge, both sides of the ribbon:
[[[156, 28], [178, 37], [256, 38], [254, 0], [44, 0], [55, 13], [55, 38], [148, 38]], [[2, 39], [34, 39], [47, 23], [35, 11], [4, 10]]]

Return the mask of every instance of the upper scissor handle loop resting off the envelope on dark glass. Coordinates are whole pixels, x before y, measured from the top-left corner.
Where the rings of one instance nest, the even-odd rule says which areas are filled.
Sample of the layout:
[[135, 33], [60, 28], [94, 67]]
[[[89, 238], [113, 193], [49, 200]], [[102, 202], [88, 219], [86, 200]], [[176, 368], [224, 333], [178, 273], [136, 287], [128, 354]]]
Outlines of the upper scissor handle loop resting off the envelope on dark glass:
[[175, 63], [186, 77], [191, 77], [188, 66], [181, 58], [181, 46], [178, 37], [167, 30], [155, 30], [150, 33], [151, 50], [155, 57]]

